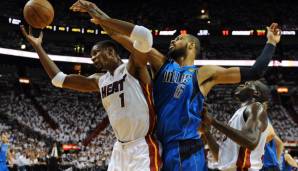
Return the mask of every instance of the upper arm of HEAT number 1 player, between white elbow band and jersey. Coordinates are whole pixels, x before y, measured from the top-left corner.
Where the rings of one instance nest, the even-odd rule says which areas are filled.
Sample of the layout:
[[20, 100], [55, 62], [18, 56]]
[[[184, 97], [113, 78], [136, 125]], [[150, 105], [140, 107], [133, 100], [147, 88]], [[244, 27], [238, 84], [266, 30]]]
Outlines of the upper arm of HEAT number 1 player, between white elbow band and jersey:
[[85, 77], [77, 74], [67, 75], [64, 82], [63, 88], [68, 88], [81, 92], [97, 92], [99, 90], [98, 87], [98, 79], [94, 77]]

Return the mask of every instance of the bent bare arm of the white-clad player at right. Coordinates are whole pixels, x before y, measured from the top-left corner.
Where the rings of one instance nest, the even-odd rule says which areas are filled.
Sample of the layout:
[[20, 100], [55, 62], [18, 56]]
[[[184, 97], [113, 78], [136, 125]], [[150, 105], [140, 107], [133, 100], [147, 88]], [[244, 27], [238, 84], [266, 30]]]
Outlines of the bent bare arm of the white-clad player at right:
[[253, 150], [259, 143], [261, 133], [267, 128], [267, 114], [262, 104], [253, 103], [246, 108], [244, 115], [247, 120], [242, 130], [234, 129], [210, 115], [204, 115], [204, 122], [214, 126], [240, 146]]

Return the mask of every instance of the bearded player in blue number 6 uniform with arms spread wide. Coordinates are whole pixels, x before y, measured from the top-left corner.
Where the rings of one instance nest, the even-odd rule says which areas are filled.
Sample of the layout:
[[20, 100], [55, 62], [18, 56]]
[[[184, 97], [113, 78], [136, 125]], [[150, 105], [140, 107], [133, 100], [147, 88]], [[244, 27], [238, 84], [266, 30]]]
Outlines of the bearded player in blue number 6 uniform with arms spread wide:
[[[133, 24], [111, 19], [101, 10], [90, 7], [92, 22], [129, 36]], [[78, 7], [79, 4], [76, 4]], [[93, 9], [92, 9], [93, 8]], [[80, 10], [75, 9], [75, 10]], [[259, 79], [271, 60], [280, 30], [273, 23], [267, 28], [267, 43], [262, 54], [251, 68], [223, 68], [219, 66], [194, 66], [200, 52], [200, 42], [192, 35], [180, 35], [171, 41], [168, 55], [152, 48], [146, 54], [154, 72], [154, 102], [157, 108], [157, 135], [163, 145], [163, 170], [207, 170], [203, 143], [197, 133], [202, 116], [204, 98], [217, 84], [233, 84]], [[145, 38], [146, 34], [138, 34]], [[130, 49], [130, 43], [122, 43]], [[141, 46], [141, 45], [138, 45]]]

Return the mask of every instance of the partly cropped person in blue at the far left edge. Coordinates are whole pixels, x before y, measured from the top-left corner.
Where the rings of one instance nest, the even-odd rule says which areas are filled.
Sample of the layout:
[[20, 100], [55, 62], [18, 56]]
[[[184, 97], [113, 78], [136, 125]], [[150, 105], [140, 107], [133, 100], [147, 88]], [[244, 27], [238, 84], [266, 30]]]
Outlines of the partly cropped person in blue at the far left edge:
[[1, 133], [1, 142], [0, 142], [0, 170], [8, 171], [6, 163], [12, 163], [12, 154], [9, 151], [8, 147], [8, 135], [6, 132]]

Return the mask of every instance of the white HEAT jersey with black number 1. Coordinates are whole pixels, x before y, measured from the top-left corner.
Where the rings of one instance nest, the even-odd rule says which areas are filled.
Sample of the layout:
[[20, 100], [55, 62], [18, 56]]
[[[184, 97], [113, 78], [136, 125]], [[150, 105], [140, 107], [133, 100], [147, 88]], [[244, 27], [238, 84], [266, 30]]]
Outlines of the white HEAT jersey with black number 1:
[[118, 140], [133, 141], [145, 137], [149, 131], [150, 108], [139, 81], [130, 75], [126, 64], [114, 74], [99, 79], [103, 106]]

